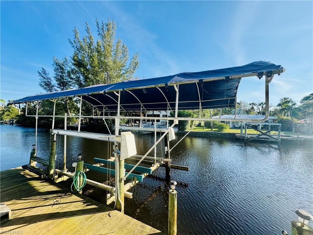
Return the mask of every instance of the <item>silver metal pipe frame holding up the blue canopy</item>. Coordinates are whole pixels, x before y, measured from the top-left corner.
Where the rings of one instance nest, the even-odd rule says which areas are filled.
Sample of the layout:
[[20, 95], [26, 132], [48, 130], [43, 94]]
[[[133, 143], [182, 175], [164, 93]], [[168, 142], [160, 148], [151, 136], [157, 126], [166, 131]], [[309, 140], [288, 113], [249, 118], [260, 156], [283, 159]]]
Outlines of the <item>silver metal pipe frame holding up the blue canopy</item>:
[[[136, 96], [136, 94], [134, 94], [134, 92], [132, 92], [132, 90], [140, 90], [140, 89], [143, 89], [143, 92], [145, 93], [146, 89], [148, 88], [157, 88], [158, 91], [161, 92], [162, 96], [165, 98], [165, 101], [166, 102], [155, 102], [153, 104], [156, 104], [156, 103], [161, 103], [161, 104], [166, 104], [167, 105], [167, 111], [170, 109], [171, 111], [173, 111], [173, 107], [171, 106], [171, 104], [175, 103], [175, 115], [174, 117], [162, 117], [163, 120], [167, 120], [167, 128], [165, 129], [164, 133], [162, 134], [162, 136], [156, 140], [156, 131], [157, 131], [157, 128], [156, 128], [156, 124], [155, 124], [155, 127], [154, 128], [150, 128], [151, 129], [151, 132], [154, 131], [154, 144], [151, 146], [151, 148], [146, 152], [146, 154], [144, 154], [143, 156], [140, 156], [141, 158], [138, 160], [138, 162], [136, 163], [136, 165], [134, 165], [134, 167], [124, 176], [122, 177], [122, 182], [124, 180], [126, 180], [126, 178], [133, 172], [133, 170], [136, 169], [136, 167], [147, 157], [147, 155], [154, 149], [154, 166], [155, 167], [158, 167], [160, 164], [159, 163], [156, 163], [156, 146], [158, 143], [160, 143], [162, 141], [162, 139], [164, 137], [167, 136], [167, 134], [171, 131], [171, 129], [174, 127], [174, 125], [176, 125], [179, 121], [197, 121], [197, 123], [201, 122], [201, 121], [229, 121], [230, 119], [229, 118], [212, 118], [210, 116], [210, 118], [201, 118], [201, 110], [203, 108], [206, 108], [208, 109], [208, 107], [210, 108], [214, 108], [214, 105], [212, 106], [203, 106], [205, 105], [205, 103], [203, 102], [207, 102], [207, 101], [218, 101], [218, 100], [227, 100], [228, 99], [228, 104], [225, 104], [224, 106], [226, 107], [230, 107], [230, 101], [231, 99], [234, 99], [234, 108], [235, 108], [235, 116], [233, 119], [233, 121], [239, 121], [239, 122], [264, 122], [268, 119], [269, 117], [269, 83], [272, 81], [273, 77], [275, 74], [278, 74], [280, 75], [280, 73], [284, 72], [285, 69], [280, 67], [279, 69], [273, 69], [273, 70], [267, 70], [267, 71], [262, 71], [262, 72], [252, 72], [252, 73], [244, 73], [244, 74], [239, 74], [239, 75], [231, 75], [231, 76], [222, 76], [222, 77], [210, 77], [210, 78], [202, 78], [202, 79], [192, 79], [192, 80], [187, 80], [187, 81], [173, 81], [173, 82], [168, 82], [168, 83], [160, 83], [160, 84], [156, 84], [156, 85], [147, 85], [147, 86], [136, 86], [136, 87], [128, 87], [128, 88], [123, 88], [123, 89], [112, 89], [112, 90], [103, 90], [103, 91], [97, 91], [97, 92], [90, 92], [90, 93], [84, 93], [84, 94], [77, 94], [77, 95], [69, 95], [69, 96], [60, 96], [60, 97], [54, 97], [54, 108], [53, 108], [53, 115], [38, 115], [38, 106], [39, 106], [39, 101], [42, 101], [42, 100], [48, 100], [47, 99], [39, 99], [39, 100], [34, 100], [34, 101], [37, 101], [37, 109], [36, 109], [36, 115], [28, 115], [28, 102], [31, 102], [33, 100], [30, 100], [30, 101], [26, 101], [26, 113], [25, 115], [28, 116], [28, 117], [35, 117], [36, 118], [36, 145], [37, 145], [37, 123], [38, 123], [38, 118], [39, 117], [52, 117], [53, 118], [53, 123], [52, 123], [52, 129], [50, 131], [50, 133], [52, 133], [55, 137], [56, 134], [63, 134], [63, 135], [73, 135], [73, 136], [78, 136], [78, 137], [84, 137], [84, 138], [96, 138], [94, 135], [90, 134], [90, 133], [84, 133], [84, 132], [81, 132], [80, 131], [80, 124], [81, 124], [81, 119], [82, 118], [101, 118], [105, 121], [105, 119], [115, 119], [115, 133], [114, 135], [112, 134], [106, 134], [106, 137], [107, 137], [107, 140], [104, 139], [105, 141], [113, 141], [114, 142], [114, 145], [117, 146], [117, 142], [118, 142], [118, 138], [119, 138], [119, 129], [120, 129], [120, 119], [121, 118], [126, 118], [124, 116], [121, 116], [121, 111], [122, 112], [127, 112], [127, 108], [125, 107], [126, 105], [137, 105], [137, 104], [124, 104], [124, 103], [121, 103], [121, 96], [122, 95], [125, 95], [126, 93], [130, 93], [132, 96], [134, 96], [136, 98], [136, 100], [139, 102], [138, 105], [140, 105], [140, 117], [132, 117], [134, 119], [140, 119], [140, 126], [137, 128], [137, 127], [132, 127], [133, 130], [140, 130], [140, 128], [142, 129], [142, 120], [143, 119], [146, 119], [146, 117], [141, 117], [141, 114], [142, 114], [142, 108], [147, 111], [147, 110], [154, 110], [152, 108], [147, 108], [147, 105], [149, 105], [149, 102], [142, 102], [142, 100]], [[237, 91], [238, 91], [238, 86], [239, 86], [239, 82], [240, 82], [240, 79], [242, 77], [250, 77], [250, 76], [258, 76], [259, 78], [262, 77], [262, 76], [265, 76], [265, 117], [262, 118], [262, 119], [240, 119], [240, 118], [236, 118], [236, 114], [237, 114], [237, 105], [236, 105], [236, 102], [237, 102]], [[226, 83], [228, 83], [229, 80], [231, 79], [239, 79], [238, 81], [236, 81], [236, 83], [232, 83], [232, 84], [236, 84], [236, 87], [235, 87], [235, 93], [234, 93], [234, 97], [231, 96], [231, 97], [226, 97]], [[210, 100], [201, 100], [201, 95], [200, 95], [200, 90], [199, 90], [199, 86], [198, 86], [198, 83], [200, 86], [203, 86], [203, 83], [204, 82], [208, 82], [208, 81], [220, 81], [220, 80], [226, 80], [225, 81], [225, 97], [224, 98], [218, 98], [218, 99], [210, 99]], [[179, 85], [183, 85], [183, 84], [191, 84], [191, 83], [195, 83], [196, 85], [196, 89], [197, 89], [197, 97], [198, 97], [198, 100], [196, 101], [193, 101], [193, 100], [181, 100], [179, 101], [179, 94], [180, 94], [180, 87], [182, 86], [179, 86]], [[232, 85], [231, 84], [231, 85]], [[231, 86], [230, 85], [230, 86]], [[169, 86], [173, 86], [175, 92], [173, 92], [172, 96], [175, 95], [175, 102], [173, 101], [170, 101], [168, 100], [167, 96], [163, 93], [162, 89], [160, 89], [160, 87], [168, 87]], [[203, 88], [203, 87], [202, 87]], [[204, 89], [204, 88], [203, 88]], [[122, 91], [122, 93], [121, 93]], [[127, 91], [127, 92], [126, 92]], [[207, 92], [207, 91], [206, 91]], [[112, 95], [109, 95], [112, 94]], [[175, 93], [175, 94], [174, 94]], [[208, 93], [208, 92], [207, 92]], [[103, 96], [108, 96], [110, 97], [112, 100], [114, 100], [116, 102], [116, 104], [114, 104], [114, 106], [117, 105], [117, 110], [114, 110], [117, 114], [116, 116], [110, 116], [110, 108], [108, 108], [109, 106], [113, 106], [113, 104], [107, 104], [105, 102], [101, 102], [99, 99], [97, 99], [96, 97], [93, 97], [91, 95], [96, 95], [96, 94], [102, 94]], [[117, 100], [116, 98], [114, 97], [114, 95], [117, 96]], [[79, 115], [73, 115], [73, 116], [67, 116], [67, 115], [55, 115], [55, 106], [56, 106], [56, 99], [57, 98], [64, 98], [64, 97], [77, 97], [78, 99], [80, 99], [80, 105], [79, 105]], [[84, 97], [91, 97], [93, 100], [97, 101], [98, 103], [100, 103], [101, 105], [94, 105], [92, 103], [90, 103], [87, 100], [84, 99]], [[51, 100], [51, 98], [49, 98], [49, 100]], [[91, 104], [93, 107], [103, 107], [103, 116], [95, 116], [94, 115], [94, 112], [93, 112], [93, 115], [92, 116], [87, 116], [87, 115], [81, 115], [81, 111], [82, 111], [82, 101], [86, 101], [88, 102], [89, 104]], [[173, 99], [172, 99], [173, 100]], [[23, 99], [20, 100], [20, 101], [17, 101], [16, 103], [21, 103], [23, 102]], [[178, 117], [178, 110], [179, 110], [179, 104], [180, 103], [189, 103], [189, 102], [197, 102], [199, 104], [199, 107], [197, 107], [197, 109], [199, 109], [199, 118], [184, 118], [184, 117]], [[233, 102], [233, 100], [232, 100]], [[146, 105], [146, 107], [144, 106]], [[208, 104], [207, 104], [208, 105]], [[192, 104], [191, 104], [192, 106]], [[218, 104], [218, 108], [222, 108], [223, 104], [219, 103]], [[186, 108], [186, 107], [184, 107]], [[187, 107], [188, 108], [188, 107]], [[99, 108], [98, 108], [99, 109]], [[164, 107], [162, 108], [162, 110], [164, 109]], [[192, 107], [191, 107], [192, 109]], [[100, 110], [100, 109], [99, 109]], [[157, 108], [156, 108], [157, 110]], [[130, 111], [130, 110], [129, 110]], [[139, 111], [139, 110], [138, 110]], [[108, 112], [108, 116], [105, 116], [105, 112]], [[101, 115], [101, 114], [100, 114]], [[78, 123], [78, 132], [69, 132], [69, 131], [66, 131], [66, 122], [65, 122], [65, 127], [64, 127], [64, 131], [63, 130], [56, 130], [54, 129], [54, 119], [55, 117], [64, 117], [64, 119], [66, 120], [67, 117], [75, 117], [75, 118], [79, 118], [79, 123]], [[153, 118], [155, 120], [155, 123], [156, 123], [156, 118], [154, 117]], [[169, 120], [173, 120], [173, 123], [171, 126], [168, 126], [168, 121]], [[106, 122], [105, 122], [106, 124]], [[196, 125], [195, 125], [196, 126]], [[194, 127], [195, 127], [194, 126]], [[194, 128], [193, 127], [193, 128]], [[192, 129], [193, 129], [192, 128]], [[183, 139], [185, 138], [188, 134], [190, 133], [190, 131], [185, 134], [179, 141], [178, 143]], [[116, 138], [116, 139], [115, 139]], [[178, 144], [177, 143], [177, 144]], [[177, 146], [177, 144], [175, 144], [172, 148], [169, 148], [169, 144], [167, 146], [167, 151], [168, 153]], [[37, 149], [37, 146], [35, 146], [36, 149]], [[65, 155], [64, 155], [65, 156]], [[169, 159], [169, 155], [168, 155], [168, 159]], [[170, 159], [169, 159], [170, 160]], [[117, 151], [115, 151], [115, 166], [118, 166], [119, 165], [119, 157], [117, 155]], [[161, 162], [161, 165], [162, 165], [162, 162]], [[120, 198], [120, 188], [119, 188], [119, 173], [118, 173], [118, 170], [115, 170], [115, 203], [117, 201], [119, 201], [121, 204], [123, 203], [121, 201], [121, 198]], [[124, 184], [123, 184], [124, 185]], [[124, 188], [125, 188], [125, 185], [124, 185]], [[123, 191], [123, 190], [122, 190]], [[123, 205], [122, 205], [123, 207]]]

